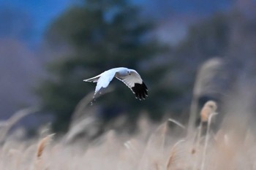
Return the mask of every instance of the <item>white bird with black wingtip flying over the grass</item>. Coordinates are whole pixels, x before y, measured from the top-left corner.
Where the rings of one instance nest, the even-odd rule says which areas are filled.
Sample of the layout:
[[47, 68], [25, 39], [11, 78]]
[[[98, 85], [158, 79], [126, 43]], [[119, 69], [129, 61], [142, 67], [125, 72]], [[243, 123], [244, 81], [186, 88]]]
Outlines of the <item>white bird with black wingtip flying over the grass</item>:
[[134, 69], [127, 69], [125, 67], [118, 67], [109, 69], [102, 74], [99, 74], [95, 77], [91, 77], [89, 79], [83, 80], [85, 82], [97, 82], [94, 96], [102, 88], [107, 88], [113, 77], [116, 77], [118, 80], [124, 82], [125, 85], [128, 86], [129, 89], [135, 93], [135, 97], [141, 99], [145, 99], [148, 96], [148, 88], [140, 77], [140, 74], [136, 72]]

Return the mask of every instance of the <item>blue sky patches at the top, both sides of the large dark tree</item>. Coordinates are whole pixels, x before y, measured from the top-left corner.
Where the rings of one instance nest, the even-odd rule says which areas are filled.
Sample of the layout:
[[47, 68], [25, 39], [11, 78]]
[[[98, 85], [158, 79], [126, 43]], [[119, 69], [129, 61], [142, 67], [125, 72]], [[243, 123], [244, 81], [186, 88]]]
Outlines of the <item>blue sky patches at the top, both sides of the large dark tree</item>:
[[[170, 13], [197, 12], [205, 15], [225, 8], [230, 0], [132, 0], [142, 4], [151, 17], [163, 18]], [[0, 0], [0, 38], [14, 36], [28, 45], [38, 45], [45, 29], [71, 4], [78, 0]], [[5, 12], [1, 12], [5, 10]], [[11, 17], [13, 21], [8, 19]], [[9, 24], [9, 25], [8, 25]]]

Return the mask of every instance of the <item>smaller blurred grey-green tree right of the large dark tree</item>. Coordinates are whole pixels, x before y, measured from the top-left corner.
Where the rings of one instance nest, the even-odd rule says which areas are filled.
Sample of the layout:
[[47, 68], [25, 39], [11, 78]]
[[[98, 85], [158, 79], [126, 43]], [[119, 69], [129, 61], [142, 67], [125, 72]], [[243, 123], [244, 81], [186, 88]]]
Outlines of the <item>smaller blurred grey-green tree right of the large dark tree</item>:
[[[176, 98], [173, 109], [187, 120], [188, 110], [192, 99], [192, 89], [195, 84], [197, 69], [210, 58], [223, 58], [227, 54], [230, 39], [230, 16], [225, 13], [217, 13], [209, 18], [198, 21], [189, 27], [187, 36], [181, 43], [174, 47], [172, 56], [173, 72], [175, 79], [172, 84], [181, 91]], [[216, 82], [219, 83], [219, 82]], [[211, 96], [203, 98], [214, 99]], [[207, 100], [200, 103], [200, 107]], [[186, 106], [186, 107], [184, 107]], [[184, 121], [186, 121], [184, 120]]]

